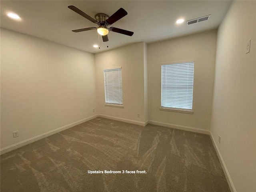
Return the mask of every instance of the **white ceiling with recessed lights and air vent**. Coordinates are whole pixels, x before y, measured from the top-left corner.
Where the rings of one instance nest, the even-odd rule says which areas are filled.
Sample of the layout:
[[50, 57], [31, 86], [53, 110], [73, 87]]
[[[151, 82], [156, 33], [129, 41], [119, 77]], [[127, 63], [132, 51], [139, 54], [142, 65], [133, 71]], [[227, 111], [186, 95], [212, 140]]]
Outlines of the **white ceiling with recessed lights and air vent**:
[[[91, 53], [110, 50], [134, 42], [156, 42], [216, 29], [224, 18], [231, 1], [40, 1], [18, 0], [2, 1], [1, 23], [2, 28], [14, 30], [24, 34], [36, 36], [52, 42], [77, 48]], [[74, 5], [92, 18], [97, 13], [105, 13], [111, 16], [119, 8], [124, 8], [128, 15], [118, 20], [111, 26], [134, 32], [133, 36], [126, 36], [115, 32], [108, 34], [108, 42], [102, 42], [100, 37], [100, 49], [94, 48], [98, 44], [96, 30], [74, 33], [71, 30], [96, 27], [86, 18], [68, 8]], [[16, 21], [6, 16], [7, 12], [15, 12], [22, 20]], [[209, 20], [186, 25], [186, 20], [211, 14]], [[177, 25], [175, 21], [184, 18], [183, 24]], [[109, 46], [109, 48], [107, 48]]]

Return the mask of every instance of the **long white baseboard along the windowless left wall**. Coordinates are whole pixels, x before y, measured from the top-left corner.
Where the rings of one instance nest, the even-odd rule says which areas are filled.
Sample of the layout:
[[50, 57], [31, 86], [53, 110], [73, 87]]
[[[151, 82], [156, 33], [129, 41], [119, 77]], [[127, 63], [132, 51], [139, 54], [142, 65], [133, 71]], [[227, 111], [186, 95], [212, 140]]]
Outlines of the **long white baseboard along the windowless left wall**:
[[20, 147], [22, 147], [22, 146], [25, 146], [25, 145], [27, 145], [27, 144], [30, 144], [30, 143], [35, 142], [35, 141], [37, 141], [37, 140], [40, 140], [40, 139], [42, 139], [42, 138], [48, 137], [48, 136], [50, 136], [50, 135], [53, 135], [53, 134], [56, 134], [56, 133], [61, 132], [61, 131], [63, 131], [63, 130], [66, 130], [66, 129], [68, 129], [68, 128], [74, 127], [74, 126], [76, 126], [76, 125], [78, 125], [78, 124], [81, 124], [81, 123], [86, 122], [86, 121], [88, 121], [88, 120], [94, 119], [94, 118], [96, 118], [96, 117], [98, 117], [98, 115], [94, 115], [94, 116], [90, 116], [90, 117], [88, 117], [88, 118], [84, 118], [84, 119], [82, 119], [82, 120], [79, 120], [79, 121], [70, 123], [70, 124], [68, 124], [68, 125], [65, 125], [65, 126], [62, 126], [62, 127], [60, 127], [60, 128], [57, 128], [57, 129], [48, 131], [48, 132], [43, 133], [43, 134], [40, 134], [40, 135], [38, 135], [38, 136], [34, 136], [34, 137], [32, 137], [32, 138], [29, 138], [29, 139], [26, 139], [26, 140], [24, 140], [24, 141], [18, 142], [18, 143], [16, 143], [16, 144], [13, 144], [13, 145], [4, 147], [4, 148], [0, 149], [0, 154], [4, 154], [4, 153], [7, 153], [7, 152], [10, 152], [10, 151], [12, 151], [12, 150], [14, 150], [14, 149], [20, 148]]

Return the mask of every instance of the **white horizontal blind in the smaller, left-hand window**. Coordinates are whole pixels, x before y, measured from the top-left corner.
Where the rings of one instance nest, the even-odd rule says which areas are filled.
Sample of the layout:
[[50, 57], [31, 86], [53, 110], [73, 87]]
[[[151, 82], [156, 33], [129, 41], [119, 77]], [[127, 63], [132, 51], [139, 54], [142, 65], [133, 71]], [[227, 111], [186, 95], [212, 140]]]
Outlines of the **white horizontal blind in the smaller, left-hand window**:
[[123, 104], [122, 68], [104, 70], [106, 104]]

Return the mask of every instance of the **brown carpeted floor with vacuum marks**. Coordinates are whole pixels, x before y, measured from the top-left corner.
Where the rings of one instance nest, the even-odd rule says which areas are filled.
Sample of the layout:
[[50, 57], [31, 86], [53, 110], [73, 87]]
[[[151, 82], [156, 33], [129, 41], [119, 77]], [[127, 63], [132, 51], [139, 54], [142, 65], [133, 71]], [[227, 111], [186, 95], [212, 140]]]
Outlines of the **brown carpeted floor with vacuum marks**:
[[[121, 173], [90, 172], [93, 170]], [[230, 192], [210, 136], [105, 118], [95, 118], [3, 154], [0, 189]]]

